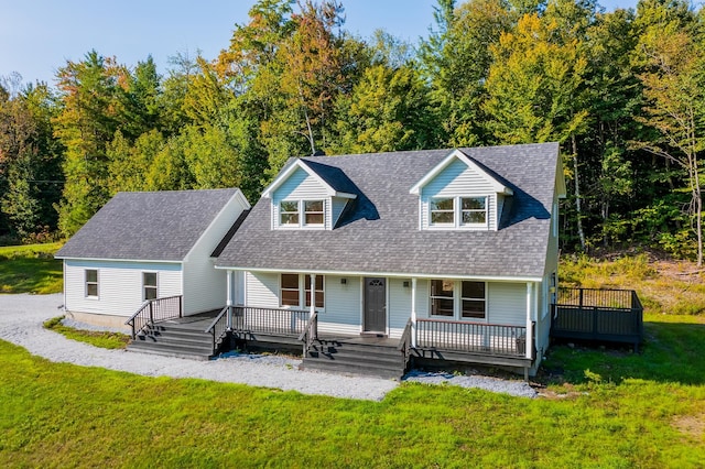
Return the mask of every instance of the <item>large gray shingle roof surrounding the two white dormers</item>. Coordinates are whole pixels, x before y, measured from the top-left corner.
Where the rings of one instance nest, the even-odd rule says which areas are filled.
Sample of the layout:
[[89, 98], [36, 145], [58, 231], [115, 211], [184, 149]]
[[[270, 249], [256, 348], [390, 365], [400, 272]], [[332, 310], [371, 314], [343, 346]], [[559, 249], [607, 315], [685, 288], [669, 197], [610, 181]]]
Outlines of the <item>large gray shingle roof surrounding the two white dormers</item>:
[[[216, 261], [289, 271], [541, 276], [555, 190], [556, 143], [459, 149], [513, 190], [497, 231], [419, 229], [409, 193], [452, 150], [316, 156], [304, 161], [357, 194], [333, 230], [272, 230], [270, 199], [252, 208]], [[336, 179], [340, 177], [340, 179]]]

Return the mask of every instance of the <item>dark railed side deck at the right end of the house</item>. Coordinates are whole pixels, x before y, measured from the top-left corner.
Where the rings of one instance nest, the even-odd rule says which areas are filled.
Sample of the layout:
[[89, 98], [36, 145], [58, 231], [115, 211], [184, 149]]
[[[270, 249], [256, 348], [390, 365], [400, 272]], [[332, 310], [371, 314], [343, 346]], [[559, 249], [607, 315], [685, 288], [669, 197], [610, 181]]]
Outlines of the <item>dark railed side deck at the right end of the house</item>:
[[643, 337], [643, 306], [631, 290], [558, 288], [551, 335], [633, 343]]

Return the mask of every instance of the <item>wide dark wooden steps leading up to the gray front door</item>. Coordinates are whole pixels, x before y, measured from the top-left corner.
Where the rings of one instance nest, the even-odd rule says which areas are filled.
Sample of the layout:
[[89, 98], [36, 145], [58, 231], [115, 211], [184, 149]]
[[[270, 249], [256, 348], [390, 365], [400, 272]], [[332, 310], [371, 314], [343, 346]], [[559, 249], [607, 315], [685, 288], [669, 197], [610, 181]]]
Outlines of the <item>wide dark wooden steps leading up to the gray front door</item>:
[[364, 374], [399, 380], [405, 363], [397, 345], [355, 343], [343, 340], [316, 340], [304, 359], [305, 370]]

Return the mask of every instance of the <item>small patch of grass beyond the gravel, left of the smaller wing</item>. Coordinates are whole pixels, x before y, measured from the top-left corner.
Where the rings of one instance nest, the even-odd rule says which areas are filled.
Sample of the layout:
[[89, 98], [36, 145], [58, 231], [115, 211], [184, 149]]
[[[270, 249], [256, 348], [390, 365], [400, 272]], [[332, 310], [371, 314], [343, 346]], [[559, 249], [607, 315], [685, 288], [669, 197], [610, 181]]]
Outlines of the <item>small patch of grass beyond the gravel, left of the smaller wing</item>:
[[54, 259], [61, 242], [0, 247], [0, 293], [61, 293], [62, 261]]

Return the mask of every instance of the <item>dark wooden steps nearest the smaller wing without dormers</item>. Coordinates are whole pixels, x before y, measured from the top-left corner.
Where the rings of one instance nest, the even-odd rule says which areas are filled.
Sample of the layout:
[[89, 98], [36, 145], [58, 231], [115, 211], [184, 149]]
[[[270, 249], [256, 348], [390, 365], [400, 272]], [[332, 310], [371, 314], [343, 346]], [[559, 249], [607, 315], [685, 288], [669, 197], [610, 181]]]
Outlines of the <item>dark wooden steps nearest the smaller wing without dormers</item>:
[[205, 334], [204, 329], [200, 321], [159, 323], [148, 326], [142, 334], [138, 334], [128, 345], [128, 350], [192, 360], [208, 360], [214, 355], [213, 337]]

